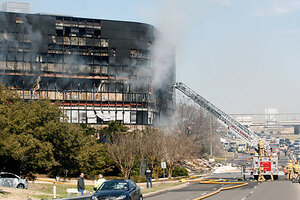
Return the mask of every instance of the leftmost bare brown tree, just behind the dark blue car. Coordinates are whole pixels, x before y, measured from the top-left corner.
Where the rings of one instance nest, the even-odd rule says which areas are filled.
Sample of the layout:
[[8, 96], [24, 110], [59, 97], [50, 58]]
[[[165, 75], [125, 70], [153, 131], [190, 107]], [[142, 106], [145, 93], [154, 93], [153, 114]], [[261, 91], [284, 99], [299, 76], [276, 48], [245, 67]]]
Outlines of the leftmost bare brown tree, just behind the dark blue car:
[[115, 134], [113, 136], [113, 143], [108, 144], [107, 150], [120, 168], [123, 176], [128, 178], [134, 166], [137, 153], [134, 134]]

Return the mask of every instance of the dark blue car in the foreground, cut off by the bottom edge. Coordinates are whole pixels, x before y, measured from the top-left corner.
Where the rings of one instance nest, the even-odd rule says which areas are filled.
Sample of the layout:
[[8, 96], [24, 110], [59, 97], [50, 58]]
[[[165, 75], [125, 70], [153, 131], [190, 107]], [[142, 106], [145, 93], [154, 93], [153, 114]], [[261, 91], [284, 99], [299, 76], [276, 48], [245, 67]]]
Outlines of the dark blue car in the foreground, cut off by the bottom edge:
[[142, 200], [143, 195], [132, 180], [105, 181], [91, 197], [92, 200]]

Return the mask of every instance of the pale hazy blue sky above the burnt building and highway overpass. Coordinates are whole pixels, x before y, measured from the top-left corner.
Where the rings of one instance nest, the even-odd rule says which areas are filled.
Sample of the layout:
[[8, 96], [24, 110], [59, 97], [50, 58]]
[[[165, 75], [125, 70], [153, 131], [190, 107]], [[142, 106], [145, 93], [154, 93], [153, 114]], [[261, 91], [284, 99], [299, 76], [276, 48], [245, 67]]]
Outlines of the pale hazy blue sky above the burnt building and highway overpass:
[[300, 0], [24, 2], [33, 13], [157, 26], [176, 45], [177, 81], [228, 113], [300, 112]]

